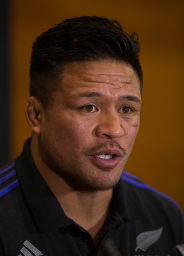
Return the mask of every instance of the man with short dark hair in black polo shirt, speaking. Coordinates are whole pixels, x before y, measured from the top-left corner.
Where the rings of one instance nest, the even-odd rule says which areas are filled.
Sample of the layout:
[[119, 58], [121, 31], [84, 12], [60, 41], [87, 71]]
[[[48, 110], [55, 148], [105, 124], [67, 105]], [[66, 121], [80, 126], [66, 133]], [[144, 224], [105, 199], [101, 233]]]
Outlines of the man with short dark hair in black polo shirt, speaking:
[[102, 17], [38, 36], [32, 136], [0, 172], [0, 255], [182, 255], [177, 205], [123, 172], [139, 130], [138, 54], [137, 35]]

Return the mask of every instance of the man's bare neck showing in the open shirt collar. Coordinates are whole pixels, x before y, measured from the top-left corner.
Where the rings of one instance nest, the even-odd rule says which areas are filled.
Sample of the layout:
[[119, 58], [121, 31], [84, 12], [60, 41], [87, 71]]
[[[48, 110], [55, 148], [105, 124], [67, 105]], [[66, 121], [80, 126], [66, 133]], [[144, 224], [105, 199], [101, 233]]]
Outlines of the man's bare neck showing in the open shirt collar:
[[[35, 147], [34, 147], [35, 153]], [[58, 173], [50, 170], [33, 154], [34, 163], [66, 216], [89, 232], [96, 243], [109, 211], [112, 189], [108, 191], [77, 191]]]

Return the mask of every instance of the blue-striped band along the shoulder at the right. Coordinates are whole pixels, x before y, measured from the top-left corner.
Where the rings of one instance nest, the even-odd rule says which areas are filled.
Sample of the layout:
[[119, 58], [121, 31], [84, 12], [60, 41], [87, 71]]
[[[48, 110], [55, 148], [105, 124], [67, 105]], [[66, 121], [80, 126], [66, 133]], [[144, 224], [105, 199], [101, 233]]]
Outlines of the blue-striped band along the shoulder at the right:
[[[125, 171], [123, 171], [124, 173]], [[180, 208], [180, 206], [169, 196], [165, 195], [164, 193], [158, 191], [157, 189], [155, 188], [152, 188], [151, 186], [149, 185], [146, 185], [144, 184], [140, 179], [138, 179], [136, 176], [130, 174], [130, 173], [127, 173], [125, 172], [123, 175], [122, 175], [122, 178], [123, 180], [125, 180], [126, 182], [136, 186], [137, 188], [141, 188], [141, 189], [148, 189], [150, 191], [153, 191], [155, 192], [157, 195], [160, 195], [164, 198], [166, 198], [167, 200], [169, 200], [170, 202], [172, 202], [174, 205], [176, 205], [176, 207]]]

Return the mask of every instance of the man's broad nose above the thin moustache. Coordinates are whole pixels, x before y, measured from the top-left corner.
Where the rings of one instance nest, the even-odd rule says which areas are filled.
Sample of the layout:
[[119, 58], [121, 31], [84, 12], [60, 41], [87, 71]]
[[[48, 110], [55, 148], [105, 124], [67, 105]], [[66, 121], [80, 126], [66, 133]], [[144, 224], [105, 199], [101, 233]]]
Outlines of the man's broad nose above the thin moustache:
[[125, 133], [123, 129], [123, 120], [116, 111], [104, 113], [99, 116], [98, 124], [95, 127], [95, 134], [98, 138], [116, 139]]

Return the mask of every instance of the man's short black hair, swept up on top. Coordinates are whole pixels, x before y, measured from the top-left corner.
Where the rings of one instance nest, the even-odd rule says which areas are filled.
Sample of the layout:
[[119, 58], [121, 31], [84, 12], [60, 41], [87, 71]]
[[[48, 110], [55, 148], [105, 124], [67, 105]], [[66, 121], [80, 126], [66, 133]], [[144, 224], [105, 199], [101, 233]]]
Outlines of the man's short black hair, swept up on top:
[[117, 20], [96, 16], [65, 19], [33, 42], [30, 95], [47, 106], [64, 65], [93, 60], [116, 60], [130, 64], [139, 77], [142, 92], [139, 51], [137, 34], [125, 33]]

